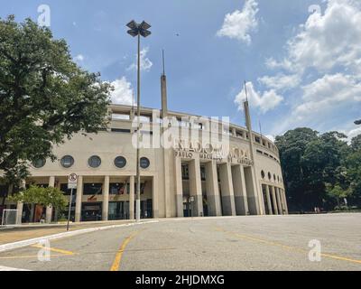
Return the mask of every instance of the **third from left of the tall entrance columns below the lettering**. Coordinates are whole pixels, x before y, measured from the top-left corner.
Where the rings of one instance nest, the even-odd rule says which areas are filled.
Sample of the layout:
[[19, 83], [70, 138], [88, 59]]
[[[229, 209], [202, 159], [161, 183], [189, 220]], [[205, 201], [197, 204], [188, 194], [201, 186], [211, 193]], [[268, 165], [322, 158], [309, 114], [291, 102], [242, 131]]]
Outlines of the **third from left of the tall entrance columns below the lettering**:
[[236, 216], [235, 193], [233, 191], [232, 171], [230, 163], [219, 166], [220, 188], [222, 195], [223, 215]]

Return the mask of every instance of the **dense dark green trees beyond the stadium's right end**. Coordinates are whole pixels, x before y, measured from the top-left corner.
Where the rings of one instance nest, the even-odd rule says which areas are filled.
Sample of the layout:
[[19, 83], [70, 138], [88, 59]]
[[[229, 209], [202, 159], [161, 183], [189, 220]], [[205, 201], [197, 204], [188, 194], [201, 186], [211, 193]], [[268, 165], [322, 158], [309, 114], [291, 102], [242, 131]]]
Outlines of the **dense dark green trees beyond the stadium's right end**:
[[276, 137], [291, 210], [333, 210], [343, 198], [357, 203], [361, 189], [359, 139], [348, 145], [346, 135], [319, 135], [310, 128]]

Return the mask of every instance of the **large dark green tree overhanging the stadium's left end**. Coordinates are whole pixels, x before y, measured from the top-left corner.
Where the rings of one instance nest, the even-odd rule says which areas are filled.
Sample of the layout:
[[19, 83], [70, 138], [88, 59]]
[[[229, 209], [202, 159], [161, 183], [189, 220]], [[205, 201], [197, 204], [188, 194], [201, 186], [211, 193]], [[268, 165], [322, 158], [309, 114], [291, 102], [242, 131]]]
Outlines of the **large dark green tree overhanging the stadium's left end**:
[[0, 19], [0, 171], [18, 183], [29, 162], [51, 158], [55, 144], [106, 126], [110, 86], [81, 70], [64, 40], [30, 19]]

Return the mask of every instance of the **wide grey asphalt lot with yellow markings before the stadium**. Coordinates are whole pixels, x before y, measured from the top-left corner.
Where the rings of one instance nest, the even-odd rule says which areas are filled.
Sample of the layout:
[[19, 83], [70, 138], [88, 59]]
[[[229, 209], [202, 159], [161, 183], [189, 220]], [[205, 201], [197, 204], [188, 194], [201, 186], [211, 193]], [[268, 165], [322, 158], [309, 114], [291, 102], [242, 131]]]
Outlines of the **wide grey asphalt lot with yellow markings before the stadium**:
[[46, 249], [35, 245], [3, 252], [0, 266], [35, 271], [358, 271], [361, 214], [160, 219], [60, 238]]

